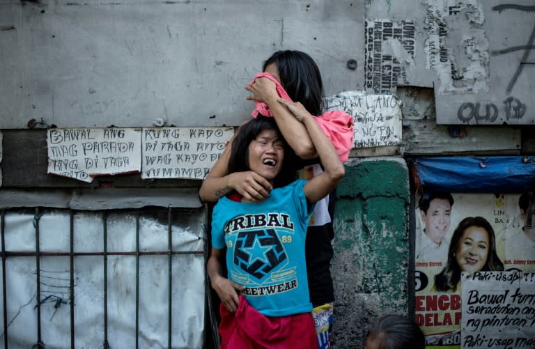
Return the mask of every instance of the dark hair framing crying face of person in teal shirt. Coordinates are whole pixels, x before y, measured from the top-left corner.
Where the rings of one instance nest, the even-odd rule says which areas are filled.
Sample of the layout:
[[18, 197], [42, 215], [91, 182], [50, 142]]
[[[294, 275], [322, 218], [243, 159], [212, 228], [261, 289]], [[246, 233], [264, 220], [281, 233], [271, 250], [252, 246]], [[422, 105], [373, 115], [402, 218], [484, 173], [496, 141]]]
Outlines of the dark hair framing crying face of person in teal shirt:
[[284, 160], [281, 171], [274, 178], [274, 187], [284, 187], [295, 180], [295, 153], [282, 137], [274, 118], [258, 116], [240, 127], [232, 141], [231, 155], [228, 159], [228, 173], [250, 171], [249, 144], [254, 141], [263, 130], [275, 130], [284, 144]]

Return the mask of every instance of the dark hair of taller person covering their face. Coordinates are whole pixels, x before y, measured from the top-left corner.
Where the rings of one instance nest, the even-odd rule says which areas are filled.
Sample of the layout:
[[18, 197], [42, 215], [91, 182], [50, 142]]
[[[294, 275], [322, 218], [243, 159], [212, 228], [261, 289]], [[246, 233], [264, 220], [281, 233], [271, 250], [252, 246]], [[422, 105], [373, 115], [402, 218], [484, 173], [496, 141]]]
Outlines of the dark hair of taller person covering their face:
[[294, 102], [300, 102], [313, 116], [323, 114], [325, 95], [320, 69], [308, 54], [300, 51], [277, 51], [264, 62], [275, 63], [281, 84]]

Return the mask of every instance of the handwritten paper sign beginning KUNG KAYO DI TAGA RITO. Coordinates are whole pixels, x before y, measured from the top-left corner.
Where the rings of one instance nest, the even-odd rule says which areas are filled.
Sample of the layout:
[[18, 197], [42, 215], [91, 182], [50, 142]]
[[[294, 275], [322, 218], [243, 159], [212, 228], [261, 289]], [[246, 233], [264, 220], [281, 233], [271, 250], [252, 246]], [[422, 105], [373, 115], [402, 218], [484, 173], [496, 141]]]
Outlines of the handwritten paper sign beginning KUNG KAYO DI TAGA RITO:
[[203, 179], [233, 134], [233, 127], [144, 128], [141, 178]]

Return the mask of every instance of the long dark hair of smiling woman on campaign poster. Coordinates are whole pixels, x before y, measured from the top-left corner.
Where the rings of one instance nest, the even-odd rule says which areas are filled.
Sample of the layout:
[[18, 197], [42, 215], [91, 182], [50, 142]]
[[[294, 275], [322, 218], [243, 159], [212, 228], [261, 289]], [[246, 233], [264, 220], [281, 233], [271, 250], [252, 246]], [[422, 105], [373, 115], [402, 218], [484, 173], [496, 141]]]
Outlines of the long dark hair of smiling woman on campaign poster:
[[448, 261], [446, 266], [442, 269], [442, 272], [435, 275], [435, 287], [437, 290], [454, 290], [457, 287], [457, 284], [460, 281], [461, 270], [455, 258], [455, 252], [463, 233], [471, 226], [479, 226], [480, 228], [485, 229], [488, 234], [488, 242], [490, 246], [487, 260], [481, 270], [484, 272], [501, 272], [504, 270], [504, 263], [500, 261], [496, 253], [496, 238], [493, 226], [491, 226], [483, 217], [466, 217], [459, 222], [457, 228], [453, 231], [453, 236], [449, 243]]

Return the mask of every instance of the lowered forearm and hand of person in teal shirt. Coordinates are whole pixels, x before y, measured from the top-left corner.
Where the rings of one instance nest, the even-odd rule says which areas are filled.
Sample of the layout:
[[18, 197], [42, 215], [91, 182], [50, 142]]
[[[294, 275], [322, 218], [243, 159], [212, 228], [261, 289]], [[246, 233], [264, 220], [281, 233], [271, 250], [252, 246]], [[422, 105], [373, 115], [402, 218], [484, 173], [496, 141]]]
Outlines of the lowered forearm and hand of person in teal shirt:
[[208, 277], [210, 277], [210, 284], [215, 290], [219, 299], [228, 311], [236, 311], [238, 309], [238, 290], [243, 290], [245, 287], [235, 284], [233, 281], [223, 276], [224, 253], [222, 249], [215, 249], [212, 247], [212, 253], [206, 263], [206, 270]]

